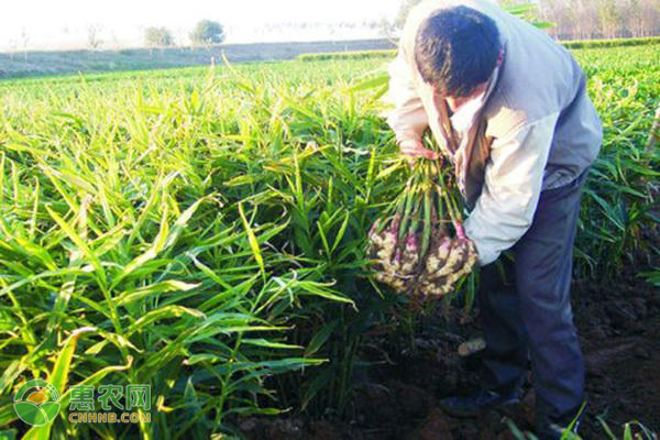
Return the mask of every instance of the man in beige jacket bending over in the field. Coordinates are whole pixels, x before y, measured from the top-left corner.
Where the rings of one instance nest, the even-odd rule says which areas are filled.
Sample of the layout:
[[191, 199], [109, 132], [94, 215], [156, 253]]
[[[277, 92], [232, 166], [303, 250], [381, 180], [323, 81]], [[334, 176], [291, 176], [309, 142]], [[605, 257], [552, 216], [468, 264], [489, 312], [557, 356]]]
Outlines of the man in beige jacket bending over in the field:
[[584, 399], [572, 245], [602, 140], [585, 77], [546, 33], [486, 0], [416, 7], [389, 75], [398, 146], [410, 161], [438, 158], [422, 146], [430, 129], [454, 167], [482, 266], [482, 388], [440, 405], [469, 417], [519, 402], [531, 360], [537, 433], [559, 438]]

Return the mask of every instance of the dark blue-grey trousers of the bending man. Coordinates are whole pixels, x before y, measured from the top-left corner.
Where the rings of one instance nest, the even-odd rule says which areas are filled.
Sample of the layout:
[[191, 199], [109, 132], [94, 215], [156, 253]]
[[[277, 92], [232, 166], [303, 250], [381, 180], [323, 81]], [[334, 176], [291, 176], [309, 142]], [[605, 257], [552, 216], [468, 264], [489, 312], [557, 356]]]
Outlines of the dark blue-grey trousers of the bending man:
[[584, 398], [584, 362], [570, 302], [572, 248], [582, 187], [541, 193], [531, 228], [498, 263], [482, 267], [477, 301], [486, 340], [485, 386], [524, 383], [531, 360], [539, 417], [570, 422]]

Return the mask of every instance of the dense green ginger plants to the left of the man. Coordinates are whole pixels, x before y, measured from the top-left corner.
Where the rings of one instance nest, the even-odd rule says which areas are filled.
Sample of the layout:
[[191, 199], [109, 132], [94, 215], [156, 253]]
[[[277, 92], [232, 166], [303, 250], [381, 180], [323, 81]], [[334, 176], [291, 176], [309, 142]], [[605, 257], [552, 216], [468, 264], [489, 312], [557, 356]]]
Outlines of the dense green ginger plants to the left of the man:
[[[208, 438], [286, 398], [346, 405], [360, 336], [393, 301], [363, 272], [365, 231], [402, 170], [376, 178], [396, 153], [360, 117], [370, 99], [290, 67], [77, 79], [45, 98], [14, 84], [0, 112], [2, 426], [21, 426], [11, 392], [72, 350], [69, 385], [106, 376], [162, 399], [121, 437]], [[62, 342], [80, 328], [94, 330]], [[63, 413], [53, 436], [92, 436]]]

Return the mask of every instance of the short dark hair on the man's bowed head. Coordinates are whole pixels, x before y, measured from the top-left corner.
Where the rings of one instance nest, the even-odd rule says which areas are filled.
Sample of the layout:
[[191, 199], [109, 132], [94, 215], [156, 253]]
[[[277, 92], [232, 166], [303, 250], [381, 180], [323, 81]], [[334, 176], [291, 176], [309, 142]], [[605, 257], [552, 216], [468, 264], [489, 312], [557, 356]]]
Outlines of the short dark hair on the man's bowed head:
[[415, 38], [415, 63], [424, 80], [443, 96], [466, 97], [488, 80], [499, 55], [495, 22], [472, 8], [441, 9]]

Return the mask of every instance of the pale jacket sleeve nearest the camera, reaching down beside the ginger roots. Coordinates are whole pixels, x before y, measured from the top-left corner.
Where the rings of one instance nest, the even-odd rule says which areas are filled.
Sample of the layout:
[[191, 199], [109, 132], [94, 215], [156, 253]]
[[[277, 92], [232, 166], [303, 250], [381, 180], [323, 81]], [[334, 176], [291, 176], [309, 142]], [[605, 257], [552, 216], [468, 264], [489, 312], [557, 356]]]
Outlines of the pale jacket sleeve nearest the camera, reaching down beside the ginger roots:
[[558, 117], [550, 114], [493, 141], [482, 194], [464, 224], [482, 266], [497, 260], [531, 226]]

